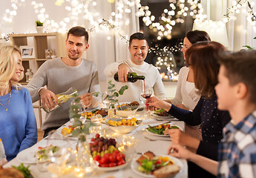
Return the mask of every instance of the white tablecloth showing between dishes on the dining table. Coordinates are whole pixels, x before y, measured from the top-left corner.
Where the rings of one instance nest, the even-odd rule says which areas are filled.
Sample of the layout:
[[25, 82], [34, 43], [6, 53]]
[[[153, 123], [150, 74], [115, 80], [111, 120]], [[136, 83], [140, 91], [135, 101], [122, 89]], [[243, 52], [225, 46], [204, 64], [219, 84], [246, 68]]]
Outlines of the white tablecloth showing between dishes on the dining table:
[[[140, 114], [137, 115], [137, 117], [140, 117]], [[152, 151], [154, 154], [156, 155], [160, 155], [160, 154], [167, 154], [168, 151], [168, 147], [169, 145], [171, 145], [171, 140], [170, 137], [160, 137], [160, 136], [154, 136], [149, 134], [148, 132], [145, 131], [145, 128], [148, 127], [148, 125], [159, 125], [163, 122], [166, 121], [157, 121], [154, 116], [151, 116], [151, 119], [144, 119], [142, 124], [134, 131], [132, 131], [131, 133], [128, 134], [120, 134], [118, 133], [116, 135], [116, 139], [118, 139], [119, 137], [122, 137], [123, 135], [128, 135], [128, 136], [134, 136], [135, 139], [137, 139], [137, 146], [136, 146], [136, 152], [137, 153], [145, 153], [146, 151]], [[185, 128], [185, 124], [184, 122], [180, 122], [180, 121], [171, 121], [171, 123], [180, 126], [180, 128]], [[68, 125], [70, 125], [70, 123], [66, 123], [65, 125], [62, 126], [63, 127], [67, 127]], [[107, 125], [105, 125], [105, 127], [108, 127]], [[56, 133], [60, 133], [60, 131], [62, 130], [62, 128], [59, 128]], [[112, 131], [111, 129], [107, 129], [106, 130], [106, 135], [113, 135], [114, 131]], [[148, 139], [145, 139], [144, 136], [147, 136], [151, 139], [167, 139], [168, 141], [162, 141], [162, 140], [157, 140], [157, 141], [149, 141]], [[40, 141], [42, 142], [42, 141]], [[73, 142], [73, 145], [76, 144], [76, 140], [75, 139], [71, 139], [71, 142]], [[39, 142], [36, 143], [36, 145], [33, 145], [33, 147], [38, 147]], [[138, 154], [139, 156], [139, 154]], [[178, 174], [175, 178], [187, 178], [188, 177], [188, 166], [187, 166], [187, 162], [184, 159], [180, 159], [180, 161], [183, 163], [183, 170], [180, 172], [180, 174]], [[19, 162], [16, 158], [11, 160], [10, 162], [8, 162], [6, 165], [4, 165], [4, 168], [10, 167], [11, 165], [19, 165], [21, 162]], [[28, 164], [24, 164], [24, 165], [28, 165]], [[30, 164], [30, 171], [33, 174], [33, 177], [35, 178], [50, 178], [53, 175], [50, 174], [49, 172], [41, 172], [38, 170], [38, 168], [36, 167], [36, 164]], [[94, 170], [93, 177], [122, 177], [122, 178], [137, 178], [137, 177], [141, 177], [140, 175], [134, 173], [134, 171], [132, 171], [131, 169], [131, 165], [127, 165], [125, 168], [120, 169], [119, 171], [111, 171], [111, 172], [102, 172], [102, 171], [97, 171]]]

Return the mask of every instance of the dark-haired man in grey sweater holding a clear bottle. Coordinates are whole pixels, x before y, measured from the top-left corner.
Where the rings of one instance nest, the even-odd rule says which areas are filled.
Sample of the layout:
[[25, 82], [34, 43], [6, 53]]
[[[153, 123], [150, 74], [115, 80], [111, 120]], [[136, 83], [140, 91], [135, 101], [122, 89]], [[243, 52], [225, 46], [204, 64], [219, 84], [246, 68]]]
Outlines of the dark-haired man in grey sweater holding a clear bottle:
[[[95, 108], [101, 102], [99, 97], [91, 93], [100, 91], [96, 65], [82, 59], [88, 50], [88, 32], [84, 27], [72, 27], [68, 31], [66, 50], [68, 56], [47, 60], [27, 85], [33, 102], [41, 99], [42, 105], [53, 108], [57, 102], [56, 94], [63, 93], [69, 88], [75, 88], [85, 107]], [[47, 86], [47, 89], [44, 86]], [[100, 95], [99, 95], [100, 96]], [[54, 101], [53, 101], [54, 100]], [[69, 120], [68, 110], [70, 101], [65, 102], [56, 110], [47, 113], [42, 130], [45, 136], [49, 131], [56, 130]]]

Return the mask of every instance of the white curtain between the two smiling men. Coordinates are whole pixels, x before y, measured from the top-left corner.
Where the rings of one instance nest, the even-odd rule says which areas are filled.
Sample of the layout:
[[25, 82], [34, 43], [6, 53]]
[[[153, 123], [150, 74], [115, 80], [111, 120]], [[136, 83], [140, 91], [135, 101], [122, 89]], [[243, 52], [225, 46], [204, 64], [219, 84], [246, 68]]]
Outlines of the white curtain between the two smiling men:
[[[99, 16], [108, 20], [111, 16], [111, 12], [118, 13], [118, 3], [123, 3], [123, 0], [115, 0], [114, 3], [108, 3], [108, 1], [101, 1], [100, 5], [95, 7], [95, 10], [100, 13]], [[130, 58], [128, 52], [128, 39], [132, 33], [140, 31], [139, 17], [136, 16], [137, 6], [129, 7], [131, 13], [122, 13], [122, 19], [115, 19], [115, 27], [117, 29], [99, 30], [94, 33], [90, 33], [89, 50], [86, 58], [95, 62], [99, 71], [99, 82], [101, 90], [105, 90], [107, 84], [107, 78], [103, 73], [105, 67], [112, 62], [123, 61]], [[85, 21], [85, 25], [88, 22]], [[111, 23], [113, 24], [113, 23]], [[120, 35], [125, 36], [122, 39]]]

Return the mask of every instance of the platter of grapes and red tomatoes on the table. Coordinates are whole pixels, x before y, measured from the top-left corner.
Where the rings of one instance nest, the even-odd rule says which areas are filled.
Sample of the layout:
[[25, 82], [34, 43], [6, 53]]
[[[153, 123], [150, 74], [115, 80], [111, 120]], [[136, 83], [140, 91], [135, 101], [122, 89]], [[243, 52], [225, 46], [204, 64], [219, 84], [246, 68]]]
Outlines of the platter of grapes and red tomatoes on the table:
[[90, 150], [100, 171], [115, 171], [127, 165], [125, 154], [116, 148], [116, 139], [108, 139], [97, 133], [95, 138], [91, 138]]

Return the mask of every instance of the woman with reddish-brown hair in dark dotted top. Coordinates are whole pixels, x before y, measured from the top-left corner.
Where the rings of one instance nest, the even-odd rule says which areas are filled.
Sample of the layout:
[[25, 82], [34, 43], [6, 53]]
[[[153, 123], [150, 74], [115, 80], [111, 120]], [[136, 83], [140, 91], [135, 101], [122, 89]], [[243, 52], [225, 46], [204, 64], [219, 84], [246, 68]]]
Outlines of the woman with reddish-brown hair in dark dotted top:
[[[217, 62], [217, 54], [225, 51], [225, 47], [217, 42], [200, 42], [193, 44], [186, 51], [188, 66], [194, 71], [194, 84], [201, 97], [194, 111], [186, 111], [171, 105], [168, 102], [151, 97], [148, 106], [163, 108], [165, 111], [183, 120], [188, 125], [201, 125], [203, 140], [195, 139], [178, 129], [169, 130], [171, 141], [191, 148], [202, 156], [217, 160], [217, 144], [223, 138], [222, 129], [231, 119], [227, 111], [217, 109], [217, 96], [214, 91], [217, 85], [217, 74], [220, 65]], [[193, 168], [191, 168], [193, 167]], [[202, 174], [198, 174], [198, 171]], [[197, 174], [202, 177], [211, 177], [203, 169], [188, 163], [188, 176]]]

